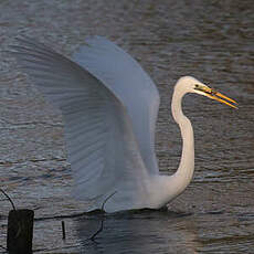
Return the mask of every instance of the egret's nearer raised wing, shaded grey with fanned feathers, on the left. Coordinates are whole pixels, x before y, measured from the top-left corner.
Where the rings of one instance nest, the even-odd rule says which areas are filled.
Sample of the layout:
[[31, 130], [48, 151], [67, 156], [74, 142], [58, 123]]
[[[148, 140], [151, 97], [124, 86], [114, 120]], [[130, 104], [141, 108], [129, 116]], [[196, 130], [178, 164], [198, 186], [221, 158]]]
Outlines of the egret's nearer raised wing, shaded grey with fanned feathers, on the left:
[[123, 103], [78, 64], [31, 39], [12, 54], [45, 97], [62, 110], [75, 197], [102, 199], [131, 182], [138, 191], [147, 169]]

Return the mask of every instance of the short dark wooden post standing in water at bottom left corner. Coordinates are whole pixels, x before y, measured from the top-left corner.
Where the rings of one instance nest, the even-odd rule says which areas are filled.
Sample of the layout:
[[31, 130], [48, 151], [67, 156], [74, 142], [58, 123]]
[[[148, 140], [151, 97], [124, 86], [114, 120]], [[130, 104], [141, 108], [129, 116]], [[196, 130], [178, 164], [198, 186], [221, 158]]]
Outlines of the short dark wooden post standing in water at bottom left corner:
[[11, 210], [8, 216], [7, 250], [9, 254], [32, 254], [34, 212]]

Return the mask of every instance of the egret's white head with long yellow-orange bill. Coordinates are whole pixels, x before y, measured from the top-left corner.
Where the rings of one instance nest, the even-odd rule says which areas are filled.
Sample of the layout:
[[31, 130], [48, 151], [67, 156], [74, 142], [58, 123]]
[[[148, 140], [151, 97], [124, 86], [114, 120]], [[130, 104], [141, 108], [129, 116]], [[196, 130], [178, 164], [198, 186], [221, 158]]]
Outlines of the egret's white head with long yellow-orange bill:
[[184, 87], [183, 89], [186, 89], [187, 93], [200, 94], [209, 98], [215, 99], [220, 103], [224, 103], [233, 108], [237, 108], [236, 107], [237, 103], [234, 99], [229, 98], [227, 96], [219, 93], [213, 88], [210, 88], [209, 86], [199, 82], [194, 77], [184, 76], [181, 77], [178, 83], [180, 86], [182, 86], [182, 88]]

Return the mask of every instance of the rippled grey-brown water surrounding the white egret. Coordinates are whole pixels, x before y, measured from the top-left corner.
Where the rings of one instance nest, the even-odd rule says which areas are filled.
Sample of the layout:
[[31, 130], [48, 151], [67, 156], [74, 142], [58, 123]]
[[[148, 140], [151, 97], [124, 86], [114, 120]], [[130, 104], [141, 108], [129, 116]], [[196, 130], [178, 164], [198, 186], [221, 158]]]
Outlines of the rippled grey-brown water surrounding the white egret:
[[[25, 33], [70, 55], [86, 35], [99, 34], [134, 55], [160, 91], [156, 148], [169, 173], [181, 152], [170, 115], [180, 76], [193, 75], [240, 104], [233, 110], [201, 96], [184, 98], [195, 133], [195, 174], [169, 211], [74, 216], [86, 204], [70, 197], [61, 115], [0, 52], [0, 187], [18, 208], [35, 211], [38, 253], [253, 253], [252, 0], [0, 0], [0, 13], [1, 50]], [[6, 245], [10, 204], [2, 199], [0, 244]], [[103, 218], [104, 231], [96, 242], [87, 241]]]

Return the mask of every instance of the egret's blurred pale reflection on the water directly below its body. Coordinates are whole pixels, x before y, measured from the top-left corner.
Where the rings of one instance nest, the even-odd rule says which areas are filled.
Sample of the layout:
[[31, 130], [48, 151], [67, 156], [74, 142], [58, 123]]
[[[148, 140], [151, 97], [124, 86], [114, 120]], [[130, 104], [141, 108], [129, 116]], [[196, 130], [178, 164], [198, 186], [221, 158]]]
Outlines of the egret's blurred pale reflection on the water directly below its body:
[[76, 221], [87, 253], [197, 253], [199, 243], [191, 214], [144, 210], [105, 215], [104, 230], [87, 241], [100, 225], [98, 215]]

